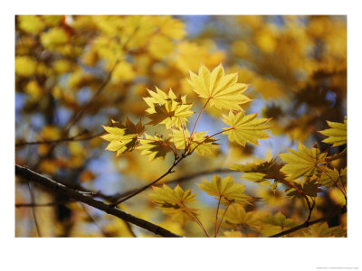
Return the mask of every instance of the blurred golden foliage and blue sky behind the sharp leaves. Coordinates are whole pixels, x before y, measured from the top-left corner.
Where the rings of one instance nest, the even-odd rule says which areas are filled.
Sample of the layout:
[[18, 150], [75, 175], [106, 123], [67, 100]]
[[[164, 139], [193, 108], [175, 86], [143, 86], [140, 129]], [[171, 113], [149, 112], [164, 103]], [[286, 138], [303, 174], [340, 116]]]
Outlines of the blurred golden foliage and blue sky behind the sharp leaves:
[[[347, 115], [346, 16], [19, 15], [15, 17], [15, 163], [102, 195], [149, 183], [167, 171], [173, 157], [149, 162], [148, 157], [132, 152], [116, 158], [104, 150], [107, 142], [99, 137], [101, 125], [126, 117], [142, 118], [145, 123], [147, 104], [142, 98], [154, 86], [186, 94], [188, 101], [195, 102], [194, 110], [200, 111], [202, 101], [186, 81], [189, 70], [196, 72], [201, 64], [213, 69], [220, 63], [226, 72], [237, 71], [240, 82], [251, 84], [245, 94], [253, 100], [244, 109], [272, 117], [272, 138], [243, 148], [222, 137], [219, 151], [188, 157], [165, 182], [219, 169], [224, 169], [221, 175], [230, 174], [228, 164], [270, 159], [285, 152], [284, 146], [295, 149], [298, 142], [329, 148], [317, 131], [328, 128], [326, 120], [343, 122]], [[208, 108], [196, 130], [220, 131], [219, 118]], [[195, 118], [188, 126], [194, 123]], [[148, 126], [148, 134], [152, 129]], [[329, 149], [338, 151], [338, 147]], [[342, 168], [347, 161], [334, 163]], [[271, 191], [240, 175], [233, 173], [255, 201], [228, 214], [222, 236], [277, 233], [278, 226], [261, 224], [258, 218], [280, 211], [289, 219], [304, 220], [306, 210], [300, 199], [286, 198], [278, 188]], [[210, 181], [212, 174], [203, 177]], [[180, 185], [199, 192], [195, 207], [202, 210], [205, 227], [212, 228], [216, 202], [202, 194], [195, 182], [200, 182], [200, 176]], [[193, 223], [183, 227], [157, 210], [148, 192], [121, 209], [177, 234], [202, 236]], [[312, 218], [343, 205], [334, 189], [321, 192], [318, 199]], [[20, 179], [15, 180], [15, 203], [17, 237], [151, 236]], [[24, 203], [46, 206], [32, 208]], [[338, 219], [335, 225], [317, 224], [294, 234], [330, 236], [333, 229], [338, 236], [338, 230], [347, 227], [346, 215]]]

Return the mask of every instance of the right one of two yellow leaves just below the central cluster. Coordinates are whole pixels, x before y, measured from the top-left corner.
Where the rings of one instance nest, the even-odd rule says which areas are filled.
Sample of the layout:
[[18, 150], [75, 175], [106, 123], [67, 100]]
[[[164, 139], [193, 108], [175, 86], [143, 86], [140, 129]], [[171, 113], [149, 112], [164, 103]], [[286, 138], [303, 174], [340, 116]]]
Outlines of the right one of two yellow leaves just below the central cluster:
[[230, 204], [238, 202], [242, 204], [249, 203], [250, 197], [245, 195], [245, 185], [233, 182], [233, 176], [227, 176], [222, 179], [217, 174], [214, 174], [214, 178], [211, 182], [202, 180], [201, 183], [196, 183], [202, 191], [208, 193], [210, 196], [221, 198], [221, 203]]

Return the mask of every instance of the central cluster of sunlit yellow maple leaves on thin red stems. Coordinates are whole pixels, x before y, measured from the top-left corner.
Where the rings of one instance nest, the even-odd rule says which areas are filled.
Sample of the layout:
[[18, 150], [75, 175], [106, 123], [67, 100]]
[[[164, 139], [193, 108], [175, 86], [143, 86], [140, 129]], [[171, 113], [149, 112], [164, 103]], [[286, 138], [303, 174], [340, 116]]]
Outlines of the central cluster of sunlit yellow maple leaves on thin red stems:
[[[205, 107], [208, 104], [220, 110], [229, 110], [228, 116], [223, 119], [229, 127], [215, 135], [228, 135], [230, 141], [242, 146], [246, 143], [258, 145], [258, 139], [271, 137], [264, 131], [271, 128], [265, 125], [270, 119], [257, 118], [257, 113], [245, 115], [240, 105], [251, 101], [242, 94], [249, 85], [238, 83], [237, 78], [237, 73], [225, 75], [224, 67], [220, 64], [212, 71], [201, 66], [197, 75], [190, 71], [188, 82], [199, 97], [207, 99]], [[178, 155], [177, 150], [184, 150], [184, 154], [192, 154], [194, 151], [201, 155], [210, 154], [212, 149], [217, 147], [214, 135], [196, 132], [195, 126], [190, 135], [186, 124], [195, 112], [191, 110], [193, 103], [186, 101], [186, 95], [177, 97], [172, 89], [166, 93], [157, 87], [156, 91], [148, 89], [148, 94], [149, 97], [143, 98], [148, 105], [146, 112], [150, 121], [147, 125], [165, 125], [171, 130], [170, 135], [164, 138], [163, 135], [144, 134], [145, 127], [140, 122], [134, 125], [127, 119], [124, 125], [118, 127], [103, 126], [106, 132], [110, 133], [101, 136], [110, 141], [107, 150], [115, 151], [119, 156], [138, 148], [142, 150], [141, 154], [148, 155], [149, 159], [153, 160], [157, 157], [165, 158], [169, 152]], [[116, 123], [112, 121], [112, 124]]]

